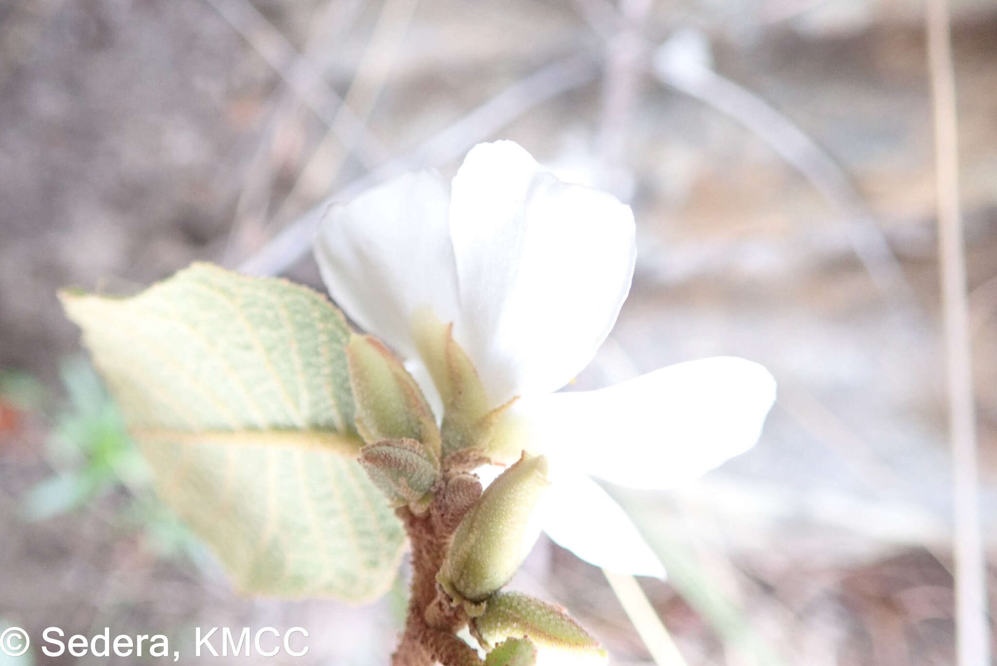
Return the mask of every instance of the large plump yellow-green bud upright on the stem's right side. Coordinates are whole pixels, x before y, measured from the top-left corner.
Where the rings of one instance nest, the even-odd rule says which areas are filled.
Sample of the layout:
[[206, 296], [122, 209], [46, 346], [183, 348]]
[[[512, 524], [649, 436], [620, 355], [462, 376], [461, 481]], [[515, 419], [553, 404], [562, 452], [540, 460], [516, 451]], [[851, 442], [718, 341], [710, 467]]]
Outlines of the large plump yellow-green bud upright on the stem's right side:
[[549, 486], [547, 461], [522, 455], [485, 490], [454, 533], [437, 579], [455, 602], [474, 604], [488, 599], [508, 582], [532, 546], [527, 533], [530, 513]]

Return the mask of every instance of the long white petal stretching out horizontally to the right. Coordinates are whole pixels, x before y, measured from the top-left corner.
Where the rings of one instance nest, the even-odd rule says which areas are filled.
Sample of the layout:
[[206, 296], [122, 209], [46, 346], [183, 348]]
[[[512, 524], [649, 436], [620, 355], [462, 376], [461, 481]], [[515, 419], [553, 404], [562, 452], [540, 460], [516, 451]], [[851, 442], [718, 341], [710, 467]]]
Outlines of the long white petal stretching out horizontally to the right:
[[662, 368], [607, 389], [519, 401], [510, 419], [551, 460], [620, 486], [692, 481], [758, 440], [776, 381], [732, 357]]

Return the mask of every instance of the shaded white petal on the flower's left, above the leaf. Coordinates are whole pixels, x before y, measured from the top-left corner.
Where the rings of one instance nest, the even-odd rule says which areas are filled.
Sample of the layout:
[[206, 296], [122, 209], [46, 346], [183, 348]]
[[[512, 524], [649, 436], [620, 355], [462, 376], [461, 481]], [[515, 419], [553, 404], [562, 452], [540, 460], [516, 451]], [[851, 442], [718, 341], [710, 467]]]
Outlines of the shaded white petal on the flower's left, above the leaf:
[[450, 196], [434, 171], [400, 176], [332, 206], [313, 248], [333, 300], [366, 331], [416, 354], [410, 318], [430, 307], [457, 316]]

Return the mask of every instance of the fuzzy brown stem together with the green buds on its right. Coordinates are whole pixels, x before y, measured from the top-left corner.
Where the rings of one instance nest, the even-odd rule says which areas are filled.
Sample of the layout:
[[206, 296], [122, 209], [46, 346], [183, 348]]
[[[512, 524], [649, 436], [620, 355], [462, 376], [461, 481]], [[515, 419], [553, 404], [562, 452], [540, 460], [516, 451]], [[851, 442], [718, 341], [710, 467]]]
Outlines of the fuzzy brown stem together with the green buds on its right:
[[[392, 666], [533, 666], [541, 650], [603, 664], [606, 652], [556, 606], [501, 587], [521, 561], [535, 498], [548, 485], [542, 456], [523, 455], [482, 492], [461, 458], [450, 457], [424, 511], [411, 502], [398, 516], [412, 542], [412, 594]], [[468, 627], [488, 650], [457, 636]]]

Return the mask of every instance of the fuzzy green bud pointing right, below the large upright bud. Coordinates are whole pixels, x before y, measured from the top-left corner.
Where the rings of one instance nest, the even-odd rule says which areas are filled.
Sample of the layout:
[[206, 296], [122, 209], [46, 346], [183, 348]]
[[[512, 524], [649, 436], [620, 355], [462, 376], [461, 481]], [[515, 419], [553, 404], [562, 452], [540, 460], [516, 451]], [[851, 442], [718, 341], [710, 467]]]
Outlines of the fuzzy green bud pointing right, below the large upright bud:
[[568, 653], [572, 663], [601, 664], [608, 658], [563, 608], [521, 592], [499, 592], [489, 599], [485, 612], [472, 620], [472, 633], [487, 650], [506, 639], [528, 637], [540, 654]]

